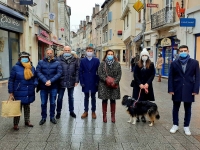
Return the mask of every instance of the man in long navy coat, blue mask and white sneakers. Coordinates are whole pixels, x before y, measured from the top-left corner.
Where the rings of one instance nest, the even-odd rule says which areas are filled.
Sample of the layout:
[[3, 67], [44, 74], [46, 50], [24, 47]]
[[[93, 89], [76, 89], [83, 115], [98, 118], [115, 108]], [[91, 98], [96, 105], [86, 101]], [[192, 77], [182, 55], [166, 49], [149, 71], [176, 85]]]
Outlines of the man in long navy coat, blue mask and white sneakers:
[[199, 62], [190, 58], [186, 45], [179, 47], [179, 58], [171, 63], [168, 92], [173, 100], [173, 126], [170, 132], [175, 133], [178, 130], [178, 112], [181, 102], [184, 102], [184, 132], [186, 135], [191, 135], [189, 129], [191, 106], [195, 95], [199, 93]]

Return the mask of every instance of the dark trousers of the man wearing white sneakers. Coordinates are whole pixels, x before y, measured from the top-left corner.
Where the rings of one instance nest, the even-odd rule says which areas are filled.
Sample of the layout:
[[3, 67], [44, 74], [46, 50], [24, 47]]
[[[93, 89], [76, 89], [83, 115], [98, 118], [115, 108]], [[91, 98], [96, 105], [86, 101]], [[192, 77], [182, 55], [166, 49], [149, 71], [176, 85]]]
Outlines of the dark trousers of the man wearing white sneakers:
[[[173, 124], [177, 126], [179, 125], [178, 113], [179, 113], [180, 105], [181, 105], [181, 102], [173, 102], [173, 111], [172, 111]], [[192, 108], [192, 103], [184, 102], [184, 109], [185, 109], [184, 127], [189, 127], [190, 125], [191, 108]]]

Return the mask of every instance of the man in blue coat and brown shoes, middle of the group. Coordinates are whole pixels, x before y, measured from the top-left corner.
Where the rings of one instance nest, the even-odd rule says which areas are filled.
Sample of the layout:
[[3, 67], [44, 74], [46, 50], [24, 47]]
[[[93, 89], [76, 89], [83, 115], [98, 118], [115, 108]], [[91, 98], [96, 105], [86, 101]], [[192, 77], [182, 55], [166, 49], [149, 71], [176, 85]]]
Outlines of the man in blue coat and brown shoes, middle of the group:
[[92, 103], [92, 118], [96, 119], [96, 97], [95, 94], [98, 91], [99, 77], [97, 75], [99, 67], [99, 59], [93, 57], [94, 49], [92, 47], [86, 48], [86, 57], [81, 59], [79, 78], [80, 84], [82, 86], [82, 91], [85, 94], [84, 106], [85, 112], [82, 114], [81, 118], [86, 118], [88, 116], [88, 104], [89, 97], [91, 96]]

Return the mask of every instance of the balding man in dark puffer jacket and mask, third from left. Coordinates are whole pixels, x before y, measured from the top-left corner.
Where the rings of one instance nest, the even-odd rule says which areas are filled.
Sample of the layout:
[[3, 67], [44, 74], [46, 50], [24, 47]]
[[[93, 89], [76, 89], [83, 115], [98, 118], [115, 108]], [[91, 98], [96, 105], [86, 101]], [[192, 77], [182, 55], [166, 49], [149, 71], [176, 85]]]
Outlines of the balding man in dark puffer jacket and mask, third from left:
[[79, 59], [77, 55], [71, 53], [69, 46], [65, 46], [63, 54], [58, 57], [58, 61], [62, 66], [63, 73], [59, 81], [56, 119], [59, 119], [61, 115], [63, 96], [66, 88], [68, 91], [70, 116], [76, 118], [76, 114], [74, 113], [74, 87], [79, 83]]

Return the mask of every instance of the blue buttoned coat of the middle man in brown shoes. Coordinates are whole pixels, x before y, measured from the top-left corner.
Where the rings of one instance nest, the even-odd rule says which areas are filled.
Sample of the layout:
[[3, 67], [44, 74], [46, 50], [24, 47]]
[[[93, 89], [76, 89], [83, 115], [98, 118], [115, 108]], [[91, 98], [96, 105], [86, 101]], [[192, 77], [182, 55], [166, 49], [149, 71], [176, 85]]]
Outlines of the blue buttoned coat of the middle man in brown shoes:
[[91, 66], [89, 66], [89, 60], [87, 58], [81, 59], [79, 69], [79, 79], [84, 93], [96, 93], [98, 91], [99, 76], [97, 75], [99, 67], [99, 59], [93, 57], [91, 60]]

